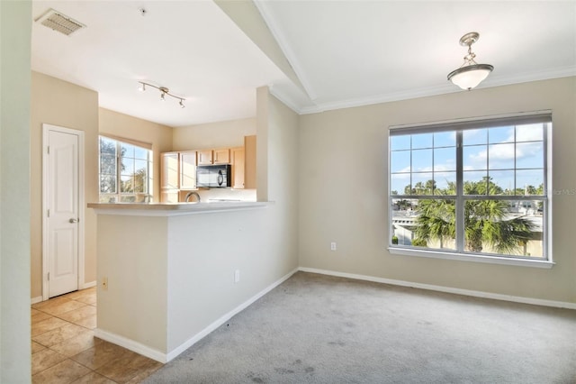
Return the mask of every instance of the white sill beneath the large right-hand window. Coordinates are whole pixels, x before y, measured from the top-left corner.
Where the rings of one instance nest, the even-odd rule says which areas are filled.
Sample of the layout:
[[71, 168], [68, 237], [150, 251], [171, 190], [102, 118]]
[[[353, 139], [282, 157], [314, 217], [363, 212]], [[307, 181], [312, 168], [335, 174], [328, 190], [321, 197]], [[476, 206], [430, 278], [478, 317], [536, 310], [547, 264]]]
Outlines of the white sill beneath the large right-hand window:
[[544, 260], [529, 260], [529, 259], [516, 259], [516, 258], [503, 258], [498, 256], [480, 256], [480, 255], [468, 255], [462, 253], [452, 253], [443, 251], [424, 251], [424, 250], [413, 250], [408, 248], [396, 248], [388, 247], [388, 251], [392, 254], [403, 255], [403, 256], [416, 256], [416, 257], [428, 257], [433, 259], [445, 259], [445, 260], [456, 260], [456, 261], [474, 261], [474, 262], [484, 262], [490, 264], [504, 264], [504, 265], [516, 265], [518, 267], [533, 267], [533, 268], [547, 268], [550, 269], [554, 266], [553, 261]]

